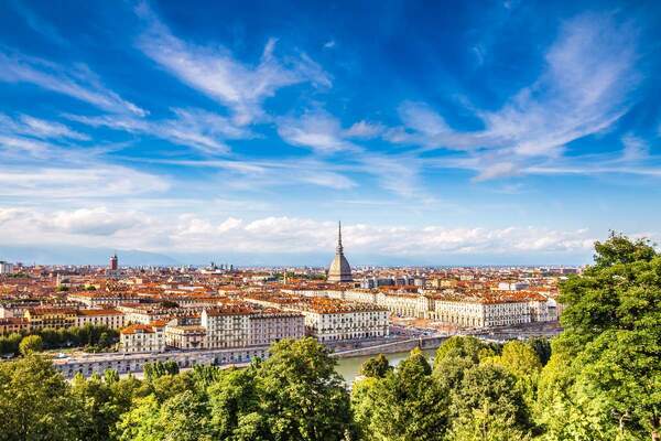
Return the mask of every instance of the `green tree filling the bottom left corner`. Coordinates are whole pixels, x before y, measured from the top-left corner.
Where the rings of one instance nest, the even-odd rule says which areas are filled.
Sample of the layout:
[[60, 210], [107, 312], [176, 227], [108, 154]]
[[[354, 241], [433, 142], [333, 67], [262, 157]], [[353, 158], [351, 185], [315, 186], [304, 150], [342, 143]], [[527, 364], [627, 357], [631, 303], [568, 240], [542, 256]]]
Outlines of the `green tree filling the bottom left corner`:
[[0, 441], [79, 439], [80, 405], [51, 361], [0, 363]]

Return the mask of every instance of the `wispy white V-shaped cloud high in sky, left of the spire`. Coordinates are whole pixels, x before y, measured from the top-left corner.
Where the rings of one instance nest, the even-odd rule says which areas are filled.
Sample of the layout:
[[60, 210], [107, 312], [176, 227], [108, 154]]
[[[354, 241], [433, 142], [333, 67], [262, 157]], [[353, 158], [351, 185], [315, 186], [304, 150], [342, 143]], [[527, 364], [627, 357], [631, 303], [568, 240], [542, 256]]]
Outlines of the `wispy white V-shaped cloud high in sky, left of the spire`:
[[330, 86], [328, 75], [307, 55], [279, 60], [274, 39], [267, 42], [259, 64], [250, 66], [225, 47], [197, 46], [177, 39], [147, 3], [137, 12], [148, 25], [138, 47], [182, 82], [231, 108], [237, 123], [262, 118], [262, 101], [279, 88], [300, 83]]

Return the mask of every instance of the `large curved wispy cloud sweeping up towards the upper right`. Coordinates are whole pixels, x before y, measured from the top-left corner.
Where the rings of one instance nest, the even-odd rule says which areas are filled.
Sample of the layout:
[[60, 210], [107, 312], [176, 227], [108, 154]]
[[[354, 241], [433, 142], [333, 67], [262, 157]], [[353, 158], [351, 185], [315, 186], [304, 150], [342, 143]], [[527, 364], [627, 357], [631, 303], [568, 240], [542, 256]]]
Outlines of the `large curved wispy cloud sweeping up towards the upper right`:
[[609, 14], [583, 14], [566, 21], [544, 57], [544, 69], [500, 109], [475, 110], [485, 128], [462, 132], [425, 104], [400, 107], [402, 127], [386, 132], [391, 142], [423, 149], [465, 151], [447, 166], [476, 170], [487, 180], [530, 172], [559, 159], [566, 146], [598, 133], [627, 112], [629, 93], [640, 79], [636, 32]]

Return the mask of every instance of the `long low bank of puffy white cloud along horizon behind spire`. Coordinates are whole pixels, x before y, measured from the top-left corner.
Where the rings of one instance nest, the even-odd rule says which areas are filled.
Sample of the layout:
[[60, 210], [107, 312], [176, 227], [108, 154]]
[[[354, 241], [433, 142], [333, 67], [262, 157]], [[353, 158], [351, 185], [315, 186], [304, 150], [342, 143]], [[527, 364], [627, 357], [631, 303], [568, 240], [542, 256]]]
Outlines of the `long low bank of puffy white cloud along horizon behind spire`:
[[[18, 226], [20, 228], [17, 228]], [[115, 212], [105, 206], [73, 212], [8, 211], [0, 207], [0, 226], [17, 228], [11, 239], [32, 243], [86, 244], [119, 248], [140, 247], [161, 252], [317, 254], [332, 256], [336, 222], [299, 217], [201, 217], [182, 214], [169, 218], [137, 211]], [[468, 255], [525, 256], [528, 254], [586, 254], [594, 237], [585, 229], [533, 227], [452, 228], [344, 224], [345, 248], [351, 255], [397, 258]]]

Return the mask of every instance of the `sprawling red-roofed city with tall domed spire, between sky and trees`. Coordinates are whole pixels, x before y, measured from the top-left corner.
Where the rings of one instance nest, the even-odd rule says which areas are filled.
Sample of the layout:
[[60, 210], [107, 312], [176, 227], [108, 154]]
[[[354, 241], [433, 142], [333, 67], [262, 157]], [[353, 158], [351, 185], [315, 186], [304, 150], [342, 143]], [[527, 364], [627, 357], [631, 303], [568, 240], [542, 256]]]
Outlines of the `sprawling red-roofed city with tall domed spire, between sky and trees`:
[[[365, 268], [353, 270], [342, 226], [328, 269], [24, 267], [2, 262], [2, 334], [86, 325], [117, 331], [108, 352], [52, 351], [66, 376], [111, 368], [141, 373], [174, 361], [241, 365], [269, 346], [306, 335], [337, 354], [377, 355], [444, 337], [475, 334], [503, 341], [560, 326], [557, 286], [579, 268]], [[494, 331], [497, 330], [498, 334]], [[340, 355], [342, 356], [342, 355]]]

